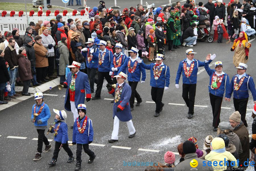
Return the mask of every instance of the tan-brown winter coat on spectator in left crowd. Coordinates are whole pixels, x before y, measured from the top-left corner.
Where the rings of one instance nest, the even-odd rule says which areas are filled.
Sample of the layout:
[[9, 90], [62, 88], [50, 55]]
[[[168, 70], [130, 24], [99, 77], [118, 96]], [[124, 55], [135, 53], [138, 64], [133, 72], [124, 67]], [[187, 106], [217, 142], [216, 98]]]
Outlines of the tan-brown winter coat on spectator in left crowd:
[[47, 67], [48, 58], [46, 58], [47, 50], [42, 44], [38, 44], [37, 42], [34, 44], [34, 50], [36, 54], [36, 68]]

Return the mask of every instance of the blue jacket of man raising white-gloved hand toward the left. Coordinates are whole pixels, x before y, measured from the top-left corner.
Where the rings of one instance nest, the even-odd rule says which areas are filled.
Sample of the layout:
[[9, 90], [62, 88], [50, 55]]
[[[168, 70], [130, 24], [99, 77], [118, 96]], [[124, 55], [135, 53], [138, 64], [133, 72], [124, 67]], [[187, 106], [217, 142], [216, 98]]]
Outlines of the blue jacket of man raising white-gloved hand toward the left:
[[143, 68], [146, 68], [147, 70], [150, 70], [150, 86], [151, 87], [157, 87], [157, 88], [164, 88], [169, 87], [170, 84], [170, 70], [167, 65], [165, 65], [163, 62], [161, 63], [161, 66], [163, 67], [162, 72], [158, 80], [155, 80], [154, 73], [153, 73], [153, 67], [156, 65], [156, 63], [151, 63], [149, 65], [144, 64], [144, 62], [141, 62], [141, 66]]

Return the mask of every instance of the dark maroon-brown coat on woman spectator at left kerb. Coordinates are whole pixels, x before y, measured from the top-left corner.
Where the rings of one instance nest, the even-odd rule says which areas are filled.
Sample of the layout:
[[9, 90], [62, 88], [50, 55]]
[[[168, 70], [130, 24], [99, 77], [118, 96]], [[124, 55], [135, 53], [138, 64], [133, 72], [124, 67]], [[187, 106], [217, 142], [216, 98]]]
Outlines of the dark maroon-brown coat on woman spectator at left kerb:
[[17, 56], [18, 62], [19, 62], [19, 76], [21, 81], [31, 80], [32, 74], [31, 74], [31, 64], [28, 58], [22, 54], [19, 54]]

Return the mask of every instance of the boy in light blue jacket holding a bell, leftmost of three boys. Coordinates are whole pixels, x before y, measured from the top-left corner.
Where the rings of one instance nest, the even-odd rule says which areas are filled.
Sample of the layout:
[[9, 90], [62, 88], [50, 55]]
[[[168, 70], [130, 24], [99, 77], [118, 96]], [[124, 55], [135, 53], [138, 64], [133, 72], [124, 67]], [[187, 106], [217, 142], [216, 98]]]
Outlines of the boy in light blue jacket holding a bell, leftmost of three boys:
[[51, 148], [51, 143], [44, 135], [44, 131], [47, 128], [48, 119], [51, 117], [51, 113], [48, 105], [44, 103], [43, 93], [35, 93], [34, 97], [36, 100], [36, 104], [34, 104], [32, 107], [30, 120], [34, 123], [36, 131], [38, 133], [37, 152], [35, 158], [33, 159], [37, 161], [42, 158], [41, 153], [43, 148], [43, 142], [45, 144], [45, 149], [43, 152], [48, 152]]

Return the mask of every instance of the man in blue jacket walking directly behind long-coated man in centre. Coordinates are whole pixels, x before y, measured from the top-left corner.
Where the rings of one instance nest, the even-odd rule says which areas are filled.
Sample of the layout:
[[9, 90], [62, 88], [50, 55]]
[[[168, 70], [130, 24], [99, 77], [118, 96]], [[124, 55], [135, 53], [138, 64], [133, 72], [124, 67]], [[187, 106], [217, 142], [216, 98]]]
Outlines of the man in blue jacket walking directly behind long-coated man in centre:
[[[132, 47], [131, 50], [128, 50], [128, 52], [130, 52], [131, 56], [129, 56], [126, 59], [124, 64], [119, 69], [118, 74], [120, 72], [126, 73], [126, 68], [127, 68], [128, 83], [129, 83], [129, 86], [131, 86], [131, 90], [132, 90], [131, 98], [130, 98], [130, 107], [131, 107], [131, 111], [133, 111], [135, 97], [137, 99], [136, 106], [139, 106], [140, 103], [142, 102], [141, 96], [136, 91], [136, 87], [140, 80], [141, 80], [141, 83], [145, 82], [146, 71], [145, 71], [145, 68], [143, 68], [137, 61], [137, 59], [141, 59], [139, 56], [137, 56], [139, 50], [135, 47]], [[142, 74], [142, 78], [141, 78], [141, 74]]]

